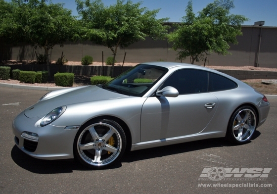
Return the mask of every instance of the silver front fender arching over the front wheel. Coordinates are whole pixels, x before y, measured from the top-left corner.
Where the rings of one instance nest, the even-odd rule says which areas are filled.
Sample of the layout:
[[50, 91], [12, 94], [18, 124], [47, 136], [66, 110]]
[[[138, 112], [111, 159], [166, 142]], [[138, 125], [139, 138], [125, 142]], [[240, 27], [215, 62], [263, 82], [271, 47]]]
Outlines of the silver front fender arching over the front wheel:
[[83, 125], [98, 116], [114, 116], [130, 129], [132, 144], [140, 142], [141, 107], [146, 97], [123, 97], [67, 105], [66, 111], [54, 122], [55, 126]]

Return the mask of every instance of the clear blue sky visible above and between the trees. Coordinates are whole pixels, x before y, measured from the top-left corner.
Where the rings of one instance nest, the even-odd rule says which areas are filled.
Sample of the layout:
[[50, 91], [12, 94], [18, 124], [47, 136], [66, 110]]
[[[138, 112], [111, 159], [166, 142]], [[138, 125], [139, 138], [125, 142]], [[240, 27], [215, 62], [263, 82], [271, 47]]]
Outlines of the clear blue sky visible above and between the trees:
[[[7, 0], [9, 1], [9, 0]], [[181, 22], [185, 16], [185, 8], [188, 0], [132, 0], [134, 3], [142, 1], [143, 7], [149, 10], [160, 8], [157, 19], [169, 17], [170, 22]], [[193, 12], [197, 14], [208, 3], [214, 0], [192, 0]], [[78, 15], [75, 0], [52, 0], [53, 3], [65, 3], [64, 7], [71, 9], [73, 15]], [[102, 0], [109, 6], [115, 4], [116, 0]], [[256, 21], [265, 21], [264, 26], [277, 27], [277, 0], [233, 0], [235, 8], [231, 14], [244, 15], [249, 19], [243, 25], [254, 25]]]

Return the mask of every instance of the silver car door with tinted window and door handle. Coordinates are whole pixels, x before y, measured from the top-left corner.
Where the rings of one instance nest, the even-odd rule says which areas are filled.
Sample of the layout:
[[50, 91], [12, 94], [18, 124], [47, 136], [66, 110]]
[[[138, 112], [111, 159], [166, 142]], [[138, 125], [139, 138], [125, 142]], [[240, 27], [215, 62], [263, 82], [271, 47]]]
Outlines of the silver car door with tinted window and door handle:
[[176, 71], [160, 89], [166, 86], [176, 88], [179, 96], [153, 96], [145, 100], [141, 111], [141, 142], [200, 133], [215, 114], [218, 99], [207, 92], [206, 71]]

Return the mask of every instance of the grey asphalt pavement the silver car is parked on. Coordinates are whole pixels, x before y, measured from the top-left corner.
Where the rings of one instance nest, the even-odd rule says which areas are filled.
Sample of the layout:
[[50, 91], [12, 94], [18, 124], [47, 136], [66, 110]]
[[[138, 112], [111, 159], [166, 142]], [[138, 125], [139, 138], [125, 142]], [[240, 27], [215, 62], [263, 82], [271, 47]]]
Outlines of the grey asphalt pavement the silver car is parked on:
[[[269, 99], [268, 120], [247, 145], [212, 139], [157, 147], [127, 153], [112, 169], [89, 170], [73, 159], [32, 158], [15, 145], [12, 120], [46, 93], [0, 87], [1, 194], [277, 193], [277, 99]], [[212, 167], [232, 172], [239, 168], [237, 177], [253, 177], [266, 172], [265, 168], [272, 169], [263, 173], [268, 178], [260, 180], [199, 180], [201, 174], [207, 174], [204, 168]]]

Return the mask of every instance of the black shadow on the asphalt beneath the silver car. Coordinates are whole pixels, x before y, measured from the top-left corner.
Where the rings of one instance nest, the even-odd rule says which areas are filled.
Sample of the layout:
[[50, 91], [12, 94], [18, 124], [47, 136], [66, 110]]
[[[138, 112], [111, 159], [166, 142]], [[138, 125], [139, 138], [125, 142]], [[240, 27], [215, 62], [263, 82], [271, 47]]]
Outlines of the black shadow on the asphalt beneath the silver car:
[[[260, 132], [256, 131], [253, 134], [251, 140], [256, 139], [260, 136]], [[190, 152], [201, 149], [208, 149], [212, 147], [225, 147], [225, 146], [236, 146], [226, 141], [225, 138], [216, 138], [208, 140], [199, 140], [195, 142], [187, 142], [177, 145], [166, 145], [161, 147], [154, 147], [148, 149], [141, 149], [137, 151], [126, 151], [126, 153], [121, 158], [121, 162], [109, 167], [108, 169], [115, 169], [122, 167], [122, 163], [131, 163], [139, 160], [146, 160], [150, 158], [163, 157], [168, 155], [174, 155], [184, 152]], [[16, 145], [13, 146], [11, 150], [11, 158], [13, 161], [33, 173], [37, 174], [59, 174], [59, 173], [72, 173], [76, 171], [87, 171], [89, 169], [74, 159], [64, 159], [64, 160], [42, 160], [33, 158], [23, 151], [21, 151]], [[108, 170], [106, 169], [106, 170]]]

